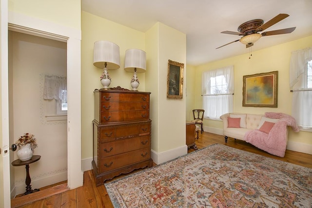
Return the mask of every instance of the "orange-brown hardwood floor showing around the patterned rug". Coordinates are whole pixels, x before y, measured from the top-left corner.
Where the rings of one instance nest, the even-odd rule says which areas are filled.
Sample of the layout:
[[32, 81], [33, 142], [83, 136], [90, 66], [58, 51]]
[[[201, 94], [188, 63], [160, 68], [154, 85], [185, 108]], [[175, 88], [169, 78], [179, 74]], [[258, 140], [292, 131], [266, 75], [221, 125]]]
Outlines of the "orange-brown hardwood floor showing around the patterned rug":
[[[225, 144], [223, 136], [211, 134], [207, 132], [203, 132], [203, 134], [199, 134], [199, 139], [195, 140], [195, 144], [198, 147], [198, 149], [203, 148], [205, 146], [213, 145], [213, 144], [227, 145], [227, 146], [242, 149], [248, 152], [253, 152], [255, 154], [260, 154], [266, 157], [274, 158], [277, 160], [282, 160], [282, 161], [297, 164], [300, 166], [306, 166], [306, 167], [312, 168], [312, 155], [310, 154], [286, 150], [285, 157], [280, 158], [280, 157], [271, 155], [265, 151], [262, 151], [244, 141], [234, 140], [232, 138], [229, 138], [227, 144]], [[189, 152], [192, 152], [192, 151], [194, 150], [189, 149]], [[116, 180], [117, 178], [124, 177], [124, 176], [125, 175], [118, 176], [113, 180]], [[11, 201], [11, 207], [12, 208], [14, 207], [20, 207], [20, 208], [113, 208], [113, 205], [110, 201], [110, 198], [107, 194], [107, 191], [104, 185], [99, 186], [99, 187], [95, 186], [95, 178], [92, 173], [92, 170], [88, 170], [84, 172], [82, 187], [78, 187], [72, 190], [67, 190], [64, 187], [64, 184], [60, 184], [59, 186], [63, 186], [63, 188], [59, 190], [59, 193], [57, 194], [54, 194], [51, 196], [49, 195], [49, 193], [51, 194], [51, 191], [53, 191], [51, 190], [51, 188], [56, 188], [56, 187], [49, 187], [43, 190], [41, 188], [39, 192], [13, 199]], [[42, 195], [44, 195], [45, 193], [49, 197], [43, 198]], [[37, 197], [35, 194], [41, 194], [41, 198], [39, 196]], [[34, 195], [34, 196], [31, 196], [31, 195]], [[16, 203], [17, 200], [20, 201], [20, 204]]]

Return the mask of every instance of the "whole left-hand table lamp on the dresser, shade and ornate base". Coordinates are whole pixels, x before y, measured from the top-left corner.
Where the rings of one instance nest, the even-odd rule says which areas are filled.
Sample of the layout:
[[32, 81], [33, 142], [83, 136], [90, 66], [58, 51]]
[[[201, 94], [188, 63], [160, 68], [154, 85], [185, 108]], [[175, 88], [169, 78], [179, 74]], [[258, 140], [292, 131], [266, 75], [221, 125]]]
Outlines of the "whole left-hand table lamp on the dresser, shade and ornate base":
[[118, 69], [120, 66], [119, 46], [113, 42], [97, 41], [94, 43], [93, 65], [103, 69], [100, 76], [103, 89], [109, 89], [111, 78], [108, 69]]

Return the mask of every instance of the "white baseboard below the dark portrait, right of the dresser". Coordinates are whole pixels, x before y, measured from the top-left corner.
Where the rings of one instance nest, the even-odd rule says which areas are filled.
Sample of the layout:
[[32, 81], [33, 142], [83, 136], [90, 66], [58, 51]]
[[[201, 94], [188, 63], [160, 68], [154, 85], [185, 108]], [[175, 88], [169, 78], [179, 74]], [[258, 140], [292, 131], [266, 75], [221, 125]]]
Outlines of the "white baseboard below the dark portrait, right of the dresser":
[[154, 163], [161, 164], [169, 160], [175, 159], [179, 156], [187, 154], [187, 145], [179, 146], [175, 149], [170, 149], [164, 152], [156, 152], [152, 149], [151, 157]]

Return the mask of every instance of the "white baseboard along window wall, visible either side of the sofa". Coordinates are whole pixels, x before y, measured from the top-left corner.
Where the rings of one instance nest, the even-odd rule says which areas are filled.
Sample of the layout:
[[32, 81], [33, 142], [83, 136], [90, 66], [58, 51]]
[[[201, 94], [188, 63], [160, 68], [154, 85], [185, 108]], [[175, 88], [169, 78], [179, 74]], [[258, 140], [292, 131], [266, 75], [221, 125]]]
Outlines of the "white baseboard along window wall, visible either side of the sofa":
[[[204, 131], [210, 132], [213, 134], [223, 135], [223, 129], [220, 128], [213, 128], [209, 126], [203, 126]], [[307, 154], [312, 154], [312, 145], [297, 143], [297, 142], [290, 142], [288, 141], [286, 149], [302, 152]]]

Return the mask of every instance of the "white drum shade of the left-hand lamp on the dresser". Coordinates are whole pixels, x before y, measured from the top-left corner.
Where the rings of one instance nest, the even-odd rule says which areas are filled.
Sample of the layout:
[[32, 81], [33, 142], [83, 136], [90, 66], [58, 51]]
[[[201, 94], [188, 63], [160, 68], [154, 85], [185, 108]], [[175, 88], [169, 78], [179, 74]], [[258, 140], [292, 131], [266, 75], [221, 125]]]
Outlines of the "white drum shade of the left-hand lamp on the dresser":
[[107, 69], [118, 69], [120, 67], [119, 46], [113, 42], [97, 41], [94, 43], [93, 65]]

